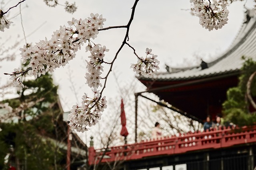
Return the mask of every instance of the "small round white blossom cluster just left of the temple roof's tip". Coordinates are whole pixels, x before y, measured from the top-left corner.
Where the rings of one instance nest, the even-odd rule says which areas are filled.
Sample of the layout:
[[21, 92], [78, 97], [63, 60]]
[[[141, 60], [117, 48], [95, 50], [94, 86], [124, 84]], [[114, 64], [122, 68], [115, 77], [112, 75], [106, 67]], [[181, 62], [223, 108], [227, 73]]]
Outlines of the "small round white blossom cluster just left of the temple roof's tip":
[[151, 53], [152, 49], [146, 48], [146, 57], [138, 57], [138, 62], [136, 64], [131, 64], [130, 68], [136, 74], [141, 74], [144, 77], [153, 76], [159, 70], [159, 61], [156, 59], [157, 55]]

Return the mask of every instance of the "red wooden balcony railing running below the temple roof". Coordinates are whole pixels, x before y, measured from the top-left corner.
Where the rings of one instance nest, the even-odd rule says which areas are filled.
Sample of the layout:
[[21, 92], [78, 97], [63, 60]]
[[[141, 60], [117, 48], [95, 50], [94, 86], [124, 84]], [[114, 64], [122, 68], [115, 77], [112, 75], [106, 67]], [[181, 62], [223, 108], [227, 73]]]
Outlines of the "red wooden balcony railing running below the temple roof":
[[[164, 137], [158, 140], [142, 141], [131, 145], [111, 147], [107, 150], [89, 149], [89, 164], [134, 160], [147, 156], [170, 155], [193, 150], [218, 149], [256, 142], [256, 127], [197, 132], [178, 137]], [[103, 157], [103, 158], [102, 158]]]

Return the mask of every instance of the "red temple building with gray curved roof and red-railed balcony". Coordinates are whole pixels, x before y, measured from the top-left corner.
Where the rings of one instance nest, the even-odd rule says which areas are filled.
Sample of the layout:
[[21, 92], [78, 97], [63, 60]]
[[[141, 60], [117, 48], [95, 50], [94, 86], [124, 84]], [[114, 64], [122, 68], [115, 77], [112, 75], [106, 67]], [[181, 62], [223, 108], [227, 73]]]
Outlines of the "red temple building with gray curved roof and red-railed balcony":
[[[153, 78], [139, 76], [147, 90], [135, 94], [135, 107], [138, 96], [154, 93], [171, 104], [170, 109], [193, 120], [202, 123], [206, 115], [215, 117], [221, 113], [228, 88], [238, 84], [242, 56], [256, 59], [256, 16], [249, 10], [232, 45], [216, 60], [183, 68], [166, 66], [166, 72]], [[191, 132], [139, 143], [136, 128], [137, 122], [134, 144], [95, 150], [92, 142], [89, 163], [122, 170], [255, 170], [256, 127]]]

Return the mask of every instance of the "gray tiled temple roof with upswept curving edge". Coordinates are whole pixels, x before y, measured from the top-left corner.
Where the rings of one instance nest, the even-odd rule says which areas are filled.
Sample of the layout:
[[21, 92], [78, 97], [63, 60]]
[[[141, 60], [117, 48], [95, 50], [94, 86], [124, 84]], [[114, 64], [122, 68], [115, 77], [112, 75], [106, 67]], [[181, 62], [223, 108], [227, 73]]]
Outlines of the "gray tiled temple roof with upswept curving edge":
[[244, 62], [241, 59], [242, 56], [256, 59], [256, 16], [252, 16], [249, 21], [243, 23], [232, 45], [216, 60], [207, 63], [208, 68], [202, 70], [200, 65], [184, 68], [170, 67], [169, 72], [159, 72], [153, 78], [140, 76], [138, 79], [188, 80], [238, 72]]

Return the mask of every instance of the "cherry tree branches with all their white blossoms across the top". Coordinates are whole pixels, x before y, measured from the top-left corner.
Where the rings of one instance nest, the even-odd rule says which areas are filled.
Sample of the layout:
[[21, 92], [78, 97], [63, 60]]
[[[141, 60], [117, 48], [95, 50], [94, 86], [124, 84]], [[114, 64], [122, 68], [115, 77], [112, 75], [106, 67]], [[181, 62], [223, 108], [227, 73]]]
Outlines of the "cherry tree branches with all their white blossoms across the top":
[[[23, 3], [26, 0], [20, 1]], [[48, 6], [58, 5], [57, 0], [44, 0]], [[199, 23], [203, 28], [212, 31], [213, 29], [221, 29], [228, 22], [227, 6], [235, 0], [190, 0], [192, 4], [192, 14], [198, 16]], [[129, 30], [135, 16], [136, 6], [139, 0], [135, 0], [131, 8], [130, 19], [127, 25], [118, 25], [104, 27], [106, 21], [100, 14], [90, 14], [85, 19], [72, 18], [68, 21], [68, 25], [60, 26], [59, 29], [53, 32], [52, 37], [46, 37], [44, 40], [38, 41], [35, 45], [26, 44], [20, 48], [21, 58], [23, 63], [29, 62], [26, 69], [15, 68], [10, 75], [14, 86], [23, 86], [23, 76], [28, 74], [35, 78], [46, 74], [46, 72], [54, 72], [56, 68], [65, 66], [70, 60], [76, 57], [76, 52], [85, 46], [88, 52], [87, 72], [85, 75], [86, 84], [92, 89], [93, 96], [88, 96], [84, 93], [82, 96], [81, 105], [74, 105], [70, 111], [68, 121], [72, 129], [79, 132], [88, 130], [88, 127], [98, 123], [101, 119], [102, 112], [106, 109], [106, 96], [102, 96], [102, 92], [106, 88], [108, 76], [112, 71], [114, 62], [116, 61], [120, 51], [124, 46], [132, 49], [138, 61], [131, 64], [130, 68], [136, 74], [150, 77], [153, 76], [159, 69], [159, 61], [157, 55], [152, 53], [152, 49], [146, 48], [146, 55], [140, 57], [136, 49], [128, 43]], [[9, 8], [6, 12], [0, 10], [0, 30], [11, 28], [12, 21], [6, 18], [6, 14], [16, 6]], [[66, 3], [65, 10], [74, 12], [75, 4]], [[116, 51], [111, 62], [106, 62], [105, 55], [109, 51], [105, 45], [95, 43], [99, 31], [108, 31], [110, 29], [125, 28], [126, 32], [122, 44]], [[108, 65], [109, 69], [104, 70], [104, 66]]]

